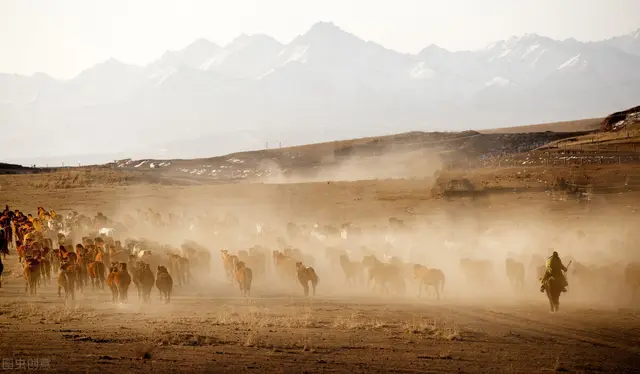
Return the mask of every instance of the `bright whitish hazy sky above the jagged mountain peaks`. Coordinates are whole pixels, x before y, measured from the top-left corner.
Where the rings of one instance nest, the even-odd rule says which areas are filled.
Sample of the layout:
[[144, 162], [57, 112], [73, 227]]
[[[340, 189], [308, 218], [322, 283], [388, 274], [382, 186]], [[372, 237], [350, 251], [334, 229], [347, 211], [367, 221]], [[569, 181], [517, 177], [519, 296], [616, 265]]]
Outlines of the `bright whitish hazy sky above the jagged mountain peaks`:
[[144, 65], [201, 37], [287, 43], [318, 21], [400, 52], [477, 49], [525, 33], [626, 34], [640, 28], [640, 0], [0, 0], [0, 72], [71, 78], [110, 57]]

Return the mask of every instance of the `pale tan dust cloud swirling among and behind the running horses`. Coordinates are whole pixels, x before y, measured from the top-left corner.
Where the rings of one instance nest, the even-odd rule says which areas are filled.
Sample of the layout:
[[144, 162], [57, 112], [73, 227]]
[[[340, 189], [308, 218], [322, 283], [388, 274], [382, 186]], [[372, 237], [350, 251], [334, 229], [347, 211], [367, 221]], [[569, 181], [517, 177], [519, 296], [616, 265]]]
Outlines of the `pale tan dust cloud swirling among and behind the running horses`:
[[[440, 167], [437, 157], [415, 163], [414, 160], [411, 153], [388, 158], [351, 158], [322, 168], [304, 180], [419, 178], [432, 175]], [[489, 197], [482, 203], [465, 198], [450, 202], [430, 200], [428, 208], [422, 209], [420, 215], [397, 215], [403, 223], [392, 228], [389, 218], [393, 214], [388, 213], [384, 205], [376, 208], [375, 214], [357, 211], [365, 205], [373, 209], [372, 205], [381, 204], [374, 200], [350, 208], [354, 211], [345, 213], [341, 220], [323, 221], [319, 211], [314, 216], [315, 208], [312, 207], [304, 214], [301, 213], [304, 207], [286, 210], [285, 203], [292, 193], [304, 195], [313, 191], [324, 195], [324, 189], [331, 188], [326, 183], [316, 183], [308, 187], [313, 190], [307, 190], [304, 186], [291, 185], [292, 180], [287, 183], [215, 188], [139, 187], [129, 189], [126, 200], [114, 196], [112, 205], [104, 213], [119, 222], [127, 222], [127, 215], [136, 221], [128, 232], [116, 234], [119, 239], [146, 238], [173, 248], [179, 248], [186, 240], [194, 240], [207, 248], [211, 254], [211, 273], [194, 270], [196, 283], [187, 291], [191, 293], [207, 292], [215, 287], [216, 292], [236, 295], [239, 292], [237, 285], [226, 284], [220, 249], [237, 254], [260, 245], [267, 249], [266, 274], [255, 280], [256, 295], [302, 293], [295, 279], [278, 276], [270, 256], [273, 250], [293, 247], [304, 254], [305, 265], [313, 266], [318, 273], [318, 295], [357, 296], [371, 300], [397, 298], [393, 290], [372, 292], [372, 284], [367, 286], [366, 271], [358, 281], [347, 282], [342, 266], [329, 254], [328, 248], [337, 248], [355, 262], [362, 262], [366, 255], [374, 255], [382, 262], [397, 257], [408, 264], [403, 268], [406, 300], [414, 301], [418, 291], [409, 264], [423, 264], [444, 272], [446, 281], [442, 295], [449, 301], [473, 302], [488, 298], [497, 301], [531, 299], [544, 303], [544, 294], [538, 291], [536, 268], [544, 265], [544, 257], [556, 250], [565, 265], [573, 261], [568, 273], [570, 292], [563, 300], [622, 305], [628, 300], [623, 279], [625, 266], [640, 260], [633, 247], [639, 239], [635, 229], [638, 219], [633, 215], [623, 216], [615, 208], [601, 207], [585, 214], [578, 206], [565, 205], [564, 209], [558, 210], [555, 203], [528, 203], [501, 196]], [[216, 194], [219, 194], [218, 198], [212, 199]], [[340, 209], [331, 205], [337, 203], [340, 201], [324, 204], [329, 206], [327, 209]], [[138, 216], [137, 209], [158, 213], [159, 222], [145, 222]], [[169, 213], [173, 219], [169, 218]], [[237, 224], [232, 223], [234, 217]], [[351, 225], [342, 232], [341, 225], [347, 222]], [[287, 230], [289, 223], [296, 225], [297, 234]], [[159, 248], [152, 250], [162, 253]], [[525, 268], [522, 290], [514, 289], [509, 283], [505, 269], [507, 258], [519, 261]], [[487, 261], [490, 270], [482, 273], [479, 280], [470, 279], [460, 266], [461, 259]], [[426, 291], [423, 291], [423, 297], [434, 300], [434, 296]]]

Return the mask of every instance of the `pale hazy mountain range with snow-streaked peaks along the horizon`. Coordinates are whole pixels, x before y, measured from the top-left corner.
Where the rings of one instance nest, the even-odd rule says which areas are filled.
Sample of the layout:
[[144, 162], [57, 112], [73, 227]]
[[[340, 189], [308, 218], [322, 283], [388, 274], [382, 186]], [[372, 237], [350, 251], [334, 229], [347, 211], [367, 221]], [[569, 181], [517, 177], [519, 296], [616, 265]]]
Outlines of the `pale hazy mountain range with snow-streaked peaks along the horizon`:
[[638, 104], [639, 66], [640, 29], [598, 42], [527, 34], [417, 54], [329, 22], [289, 44], [199, 39], [147, 66], [110, 59], [69, 80], [0, 74], [0, 156], [192, 158], [598, 117]]

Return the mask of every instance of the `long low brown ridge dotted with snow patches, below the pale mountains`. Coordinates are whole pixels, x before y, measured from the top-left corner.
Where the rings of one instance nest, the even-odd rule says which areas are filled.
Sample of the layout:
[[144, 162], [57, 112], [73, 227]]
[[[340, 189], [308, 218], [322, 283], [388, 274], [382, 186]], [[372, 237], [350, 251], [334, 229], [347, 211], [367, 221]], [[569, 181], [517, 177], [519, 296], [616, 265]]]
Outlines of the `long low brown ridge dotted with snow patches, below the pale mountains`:
[[[145, 170], [174, 178], [255, 181], [291, 174], [312, 174], [319, 168], [351, 163], [358, 164], [357, 167], [352, 165], [357, 170], [375, 171], [380, 163], [394, 169], [402, 168], [403, 162], [415, 160], [428, 164], [454, 159], [487, 159], [532, 151], [583, 133], [410, 132], [200, 159], [125, 159], [106, 166], [123, 171]], [[413, 156], [407, 156], [411, 154]]]

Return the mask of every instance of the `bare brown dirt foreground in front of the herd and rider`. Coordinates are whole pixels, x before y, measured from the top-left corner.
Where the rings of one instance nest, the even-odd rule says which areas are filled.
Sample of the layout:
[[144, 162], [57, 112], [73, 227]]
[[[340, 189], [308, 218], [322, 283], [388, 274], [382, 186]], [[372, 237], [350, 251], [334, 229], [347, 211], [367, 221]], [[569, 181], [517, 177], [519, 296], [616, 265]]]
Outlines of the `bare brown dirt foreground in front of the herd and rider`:
[[[235, 291], [235, 290], [234, 290]], [[64, 303], [16, 281], [2, 291], [0, 352], [54, 372], [632, 372], [640, 320], [628, 310], [538, 301], [416, 302], [179, 290], [172, 304]]]

